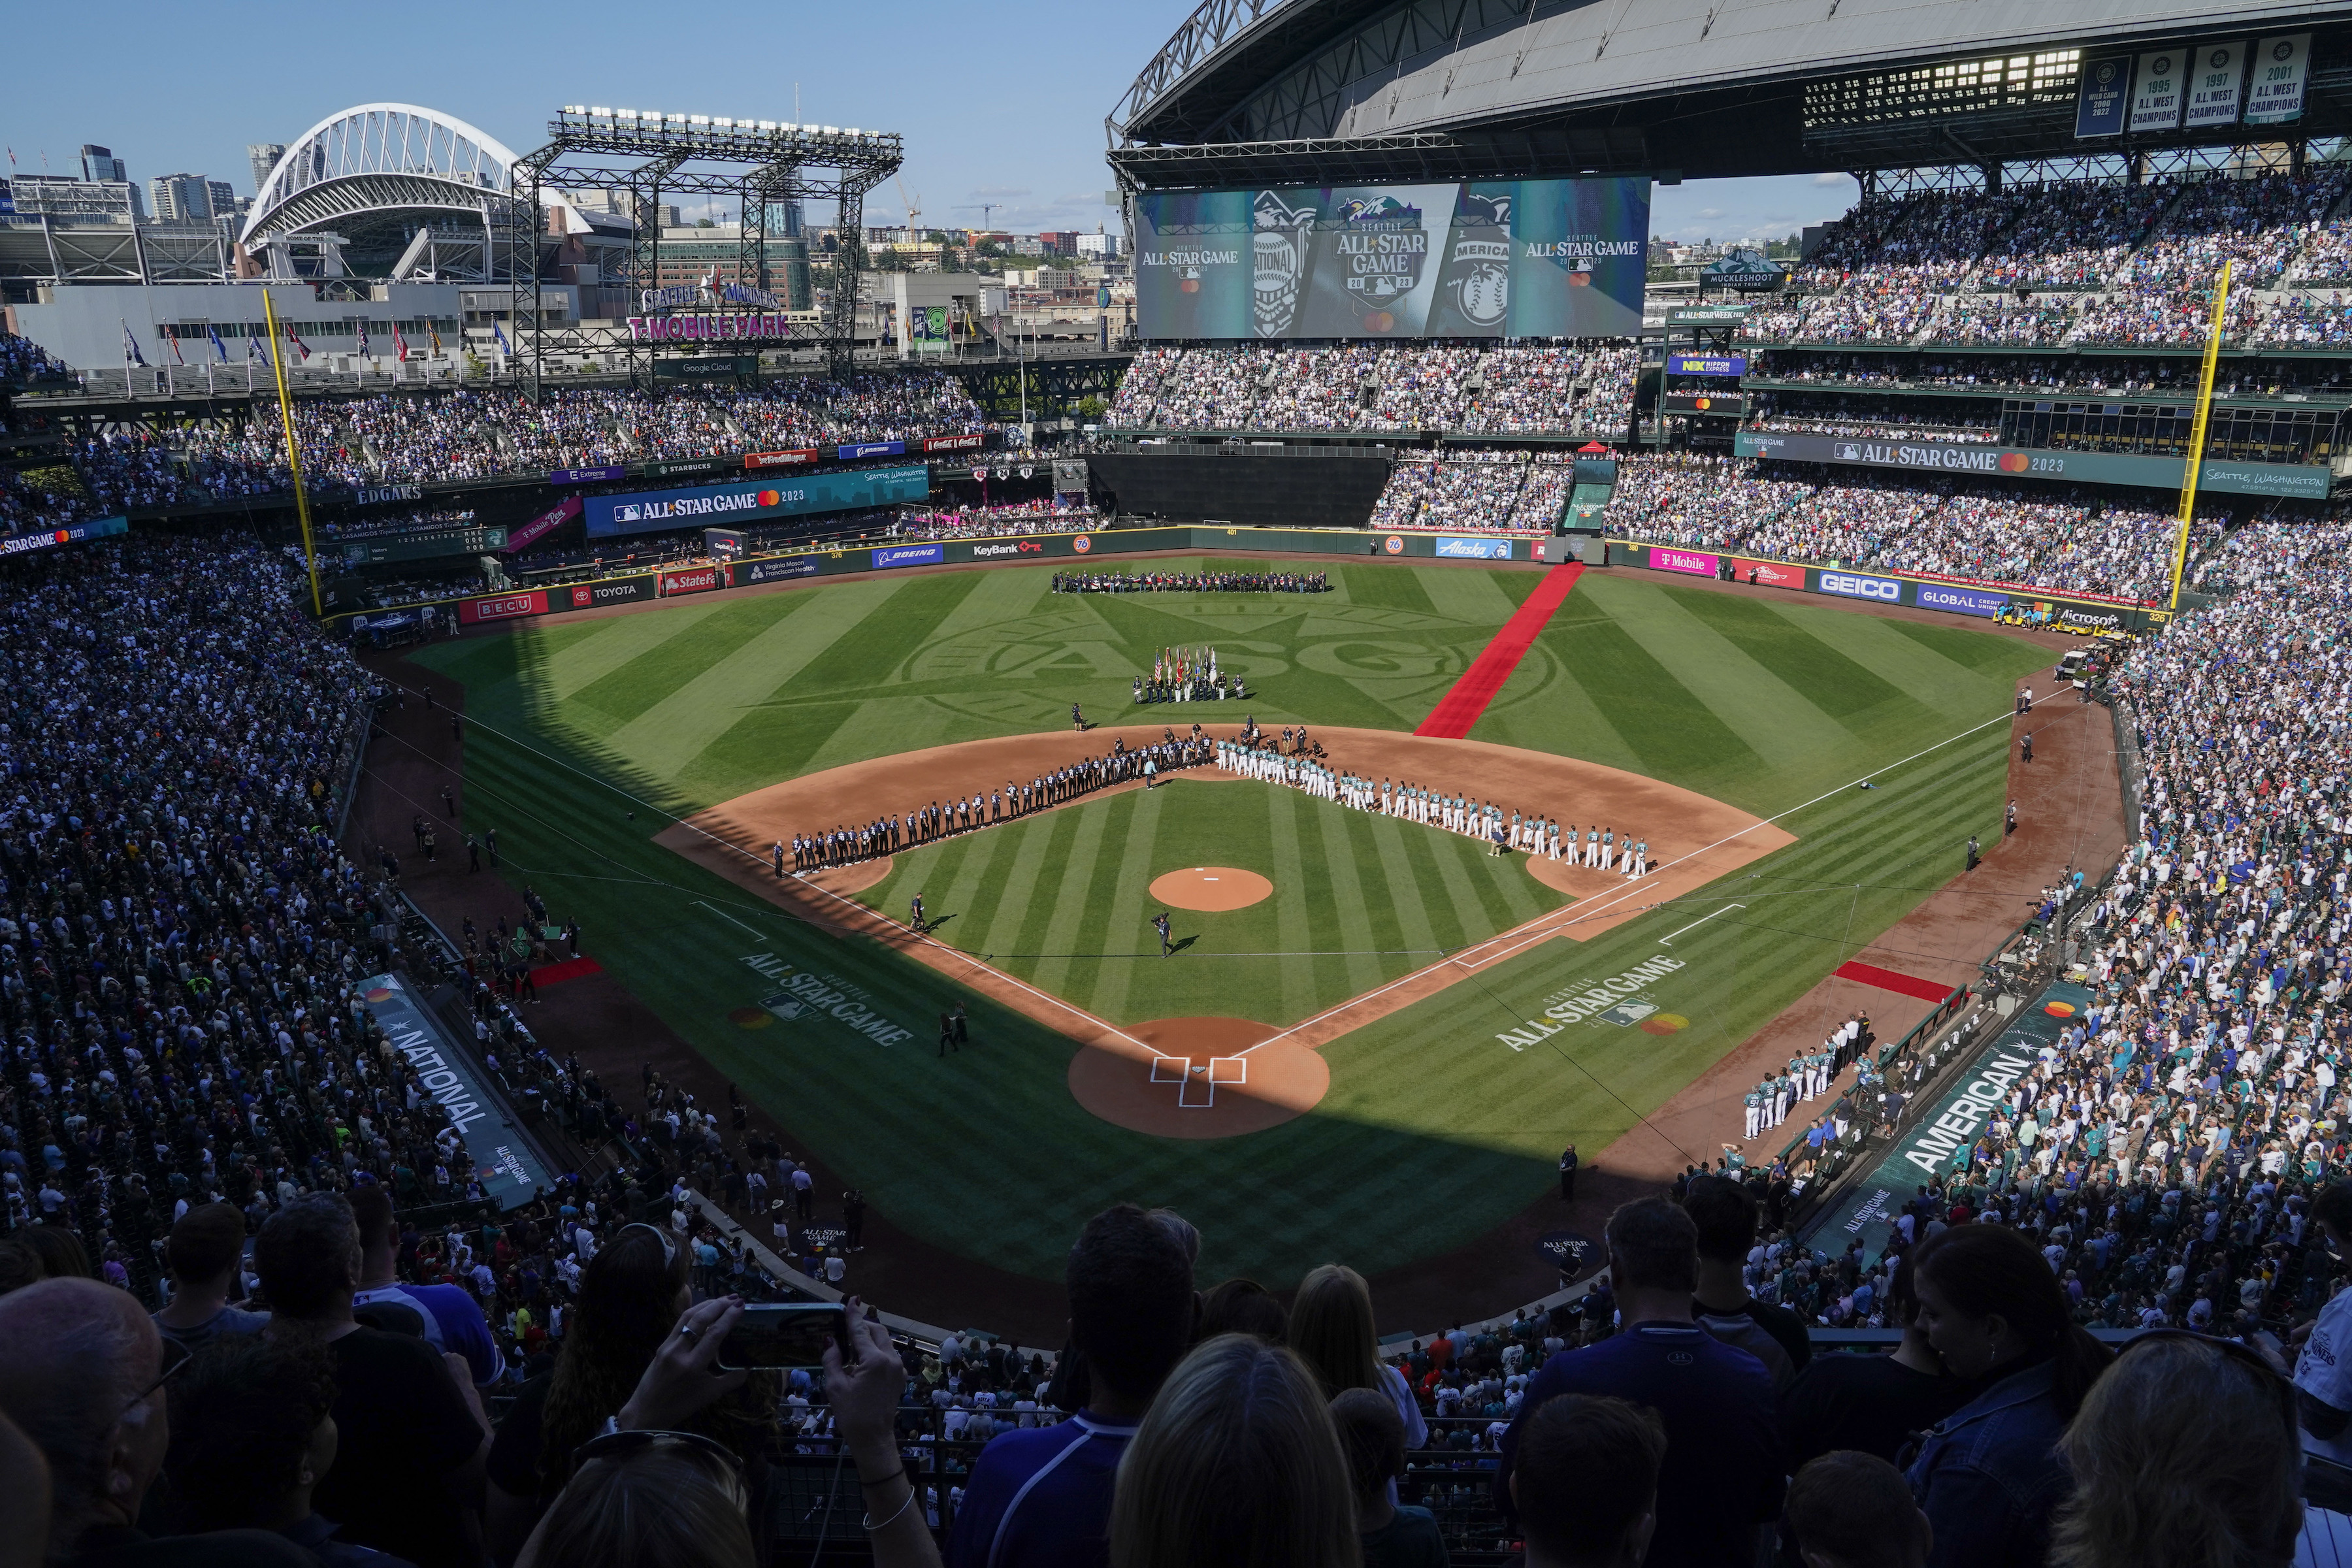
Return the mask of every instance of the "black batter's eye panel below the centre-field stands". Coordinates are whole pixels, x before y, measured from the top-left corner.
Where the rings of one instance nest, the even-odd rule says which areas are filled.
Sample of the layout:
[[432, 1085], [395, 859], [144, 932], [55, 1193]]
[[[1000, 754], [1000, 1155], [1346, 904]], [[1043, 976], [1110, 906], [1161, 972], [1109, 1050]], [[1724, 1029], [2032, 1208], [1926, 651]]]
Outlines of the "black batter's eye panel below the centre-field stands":
[[1169, 522], [1362, 529], [1388, 484], [1388, 447], [1178, 447], [1091, 451], [1110, 510]]

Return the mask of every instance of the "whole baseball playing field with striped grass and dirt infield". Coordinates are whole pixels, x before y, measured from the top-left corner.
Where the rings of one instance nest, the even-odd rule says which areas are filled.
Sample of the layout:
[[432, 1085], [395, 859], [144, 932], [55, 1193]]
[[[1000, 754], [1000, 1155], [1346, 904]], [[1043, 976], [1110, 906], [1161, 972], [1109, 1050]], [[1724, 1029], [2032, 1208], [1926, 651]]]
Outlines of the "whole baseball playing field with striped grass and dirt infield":
[[[466, 827], [496, 827], [604, 969], [894, 1222], [1058, 1276], [1084, 1215], [1131, 1197], [1202, 1227], [1202, 1279], [1279, 1286], [1517, 1213], [1564, 1143], [1604, 1147], [1952, 877], [1971, 832], [1999, 837], [1999, 719], [2049, 654], [1959, 625], [1588, 574], [1468, 741], [1411, 741], [1538, 581], [1364, 562], [1312, 597], [1068, 597], [1047, 567], [882, 574], [416, 658], [466, 686]], [[1160, 649], [1197, 644], [1249, 677], [1247, 705], [1129, 703]], [[1235, 708], [1308, 724], [1338, 766], [1599, 820], [1672, 865], [1545, 877], [1202, 773], [816, 889], [767, 872], [771, 830], [858, 820], [786, 806], [903, 811], [960, 788], [964, 757], [1108, 750], [1073, 733], [1073, 703], [1150, 733], [1232, 733]], [[1176, 910], [1190, 940], [1162, 957], [1152, 884], [1195, 867], [1268, 893]], [[938, 922], [920, 945], [884, 924], [913, 891]], [[938, 1058], [957, 1001], [971, 1046]], [[1089, 1032], [1178, 1039], [1171, 1020], [1223, 1027], [1216, 1060], [1305, 1060], [1312, 1093], [1232, 1135], [1145, 1131], [1089, 1098]], [[1195, 1077], [1138, 1067], [1122, 1093], [1181, 1117], [1277, 1074]]]

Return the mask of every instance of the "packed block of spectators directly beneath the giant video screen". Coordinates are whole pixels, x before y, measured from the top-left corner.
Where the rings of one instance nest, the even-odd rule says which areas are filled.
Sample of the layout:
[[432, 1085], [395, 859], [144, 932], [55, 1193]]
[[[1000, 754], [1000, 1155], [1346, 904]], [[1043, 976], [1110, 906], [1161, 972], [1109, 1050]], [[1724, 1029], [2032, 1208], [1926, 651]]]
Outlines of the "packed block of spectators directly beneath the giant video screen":
[[1145, 348], [1112, 430], [1468, 430], [1613, 435], [1639, 355], [1621, 343]]

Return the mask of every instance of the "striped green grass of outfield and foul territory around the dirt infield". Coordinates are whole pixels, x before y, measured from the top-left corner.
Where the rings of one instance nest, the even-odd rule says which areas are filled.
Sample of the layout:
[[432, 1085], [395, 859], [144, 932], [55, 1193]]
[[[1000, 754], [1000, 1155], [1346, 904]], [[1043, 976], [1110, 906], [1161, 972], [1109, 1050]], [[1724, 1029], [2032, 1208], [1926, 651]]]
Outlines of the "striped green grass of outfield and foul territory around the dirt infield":
[[[1632, 769], [1759, 816], [1828, 792], [1783, 820], [1799, 842], [1679, 907], [1592, 943], [1543, 943], [1334, 1041], [1324, 1048], [1331, 1093], [1310, 1117], [1249, 1138], [1178, 1143], [1080, 1110], [1065, 1088], [1070, 1044], [985, 1004], [974, 1006], [978, 1048], [934, 1060], [922, 1046], [927, 1020], [969, 994], [877, 945], [797, 926], [652, 844], [663, 813], [922, 745], [1065, 733], [1073, 701], [1096, 722], [1120, 722], [1134, 712], [1129, 682], [1167, 644], [1214, 642], [1221, 663], [1247, 668], [1261, 724], [1411, 729], [1538, 576], [1343, 564], [1331, 569], [1336, 592], [1312, 599], [1056, 599], [1047, 581], [1047, 567], [877, 576], [520, 625], [419, 654], [468, 686], [466, 827], [499, 827], [508, 867], [557, 917], [583, 922], [588, 952], [894, 1220], [1037, 1276], [1058, 1276], [1084, 1215], [1120, 1197], [1174, 1204], [1200, 1222], [1204, 1279], [1240, 1272], [1265, 1284], [1331, 1258], [1392, 1267], [1501, 1222], [1545, 1187], [1564, 1140], [1585, 1152], [1606, 1145], [1955, 875], [1971, 832], [1997, 837], [2006, 724], [1938, 743], [1999, 719], [2013, 679], [2049, 663], [2030, 644], [1966, 628], [1588, 576], [1475, 738]], [[1884, 773], [1879, 790], [1842, 788], [1924, 748], [1936, 750]], [[1211, 797], [1258, 785], [1174, 785], [1157, 809], [1190, 811], [1183, 790]], [[1037, 882], [1077, 889], [1084, 905], [1068, 919], [1103, 931], [1096, 950], [1108, 950], [1124, 896], [1117, 818], [1129, 813], [1131, 832], [1145, 809], [1127, 802], [1136, 797], [924, 851], [938, 867], [931, 910], [960, 905], [943, 936], [971, 947], [983, 907], [990, 933], [997, 914], [1025, 933], [1040, 910], [1063, 910], [1063, 891], [1049, 900], [1042, 886], [1021, 900], [1025, 912], [1014, 910], [990, 870], [1016, 858], [1028, 867], [1016, 835], [1035, 832]], [[1251, 813], [1268, 842], [1275, 811]], [[1101, 823], [1101, 846], [1080, 870], [1087, 823]], [[1310, 832], [1301, 816], [1298, 832], [1308, 842], [1329, 830], [1317, 820]], [[1334, 877], [1355, 872], [1369, 907], [1374, 889], [1392, 884], [1378, 837], [1355, 832], [1345, 844], [1324, 839], [1322, 853]], [[1442, 844], [1444, 835], [1425, 832], [1406, 853], [1444, 856]], [[962, 856], [953, 870], [950, 851]], [[990, 865], [974, 870], [983, 853]], [[1176, 863], [1207, 858], [1188, 851]], [[1432, 943], [1442, 912], [1508, 917], [1479, 889], [1489, 872], [1475, 851], [1461, 867], [1479, 889], [1470, 905], [1444, 863], [1435, 870], [1423, 889]], [[969, 898], [955, 893], [964, 882]], [[938, 886], [950, 889], [943, 903]], [[1298, 886], [1308, 889], [1305, 872]], [[1543, 896], [1534, 884], [1522, 891]], [[1270, 903], [1287, 950], [1331, 940], [1331, 910], [1310, 907], [1305, 931], [1294, 933]], [[1661, 936], [1731, 903], [1745, 907], [1661, 947]], [[485, 905], [482, 919], [492, 914]], [[1402, 907], [1392, 917], [1404, 924]], [[1131, 933], [1124, 940], [1136, 945]], [[1548, 1006], [1656, 957], [1682, 969], [1646, 983], [1642, 999], [1689, 1027], [1649, 1034], [1604, 1018], [1545, 1018]], [[1324, 985], [1315, 964], [1301, 994], [1279, 978], [1270, 987], [1242, 980], [1181, 1006], [1148, 999], [1131, 978], [1115, 1011], [1294, 1016]], [[729, 1023], [729, 1011], [771, 994], [786, 969], [861, 990], [915, 1044], [889, 1051], [833, 1018], [764, 1030]], [[1336, 983], [1352, 987], [1352, 976]], [[1098, 1004], [1105, 985], [1115, 980], [1103, 961], [1073, 959], [1058, 980]], [[1903, 1006], [1882, 1016], [1882, 1032], [1907, 1025]], [[1691, 1159], [1708, 1154], [1691, 1150]]]

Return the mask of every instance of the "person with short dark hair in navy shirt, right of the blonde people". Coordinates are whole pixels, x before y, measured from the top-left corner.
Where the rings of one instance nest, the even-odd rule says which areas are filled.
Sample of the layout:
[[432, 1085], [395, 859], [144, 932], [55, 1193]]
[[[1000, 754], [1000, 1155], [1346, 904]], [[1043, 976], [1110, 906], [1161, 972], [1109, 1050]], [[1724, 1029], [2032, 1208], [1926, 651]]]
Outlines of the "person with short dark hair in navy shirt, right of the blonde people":
[[1623, 1331], [1564, 1349], [1526, 1385], [1503, 1434], [1496, 1502], [1517, 1516], [1512, 1462], [1526, 1422], [1559, 1394], [1606, 1394], [1653, 1408], [1665, 1425], [1658, 1530], [1644, 1568], [1752, 1561], [1759, 1526], [1780, 1514], [1785, 1476], [1771, 1373], [1691, 1319], [1698, 1227], [1668, 1199], [1635, 1199], [1609, 1215], [1609, 1284]]

